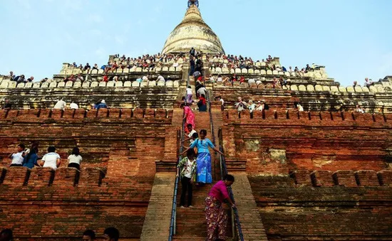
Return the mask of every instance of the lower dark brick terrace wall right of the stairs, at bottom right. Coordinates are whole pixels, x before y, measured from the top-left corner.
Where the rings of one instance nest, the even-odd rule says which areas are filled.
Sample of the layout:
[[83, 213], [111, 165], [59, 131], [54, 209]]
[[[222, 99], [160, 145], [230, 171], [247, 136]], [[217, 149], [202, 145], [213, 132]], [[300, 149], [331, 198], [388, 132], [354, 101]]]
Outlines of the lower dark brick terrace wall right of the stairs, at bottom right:
[[294, 187], [290, 179], [249, 176], [269, 240], [391, 239], [391, 188]]

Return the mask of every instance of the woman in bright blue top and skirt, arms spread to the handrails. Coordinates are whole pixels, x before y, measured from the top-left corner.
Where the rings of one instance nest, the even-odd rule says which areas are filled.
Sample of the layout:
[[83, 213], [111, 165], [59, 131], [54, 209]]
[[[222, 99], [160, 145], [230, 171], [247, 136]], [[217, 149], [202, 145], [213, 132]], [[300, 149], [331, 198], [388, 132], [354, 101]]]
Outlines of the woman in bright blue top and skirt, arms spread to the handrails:
[[212, 172], [211, 172], [211, 154], [209, 147], [219, 154], [223, 155], [220, 150], [218, 150], [210, 139], [206, 138], [207, 131], [202, 129], [200, 131], [199, 138], [193, 141], [188, 149], [182, 152], [182, 154], [187, 153], [190, 149], [197, 147], [197, 178], [196, 181], [199, 185], [204, 185], [206, 183], [212, 183]]

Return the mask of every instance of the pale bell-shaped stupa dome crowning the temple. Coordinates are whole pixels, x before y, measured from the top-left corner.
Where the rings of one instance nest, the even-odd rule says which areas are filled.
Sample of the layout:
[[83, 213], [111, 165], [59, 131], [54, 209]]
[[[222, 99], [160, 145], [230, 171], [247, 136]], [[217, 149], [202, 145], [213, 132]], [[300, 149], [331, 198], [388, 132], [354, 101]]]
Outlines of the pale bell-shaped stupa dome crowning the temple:
[[170, 33], [162, 53], [188, 52], [192, 47], [203, 53], [225, 53], [220, 39], [203, 21], [202, 14], [194, 4], [187, 9], [182, 22]]

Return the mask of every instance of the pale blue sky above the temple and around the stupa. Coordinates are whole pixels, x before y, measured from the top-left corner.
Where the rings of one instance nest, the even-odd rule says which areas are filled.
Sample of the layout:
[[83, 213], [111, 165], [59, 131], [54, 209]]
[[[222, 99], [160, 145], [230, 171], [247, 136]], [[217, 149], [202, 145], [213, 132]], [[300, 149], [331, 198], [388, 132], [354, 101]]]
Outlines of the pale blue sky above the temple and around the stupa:
[[[162, 50], [187, 0], [0, 0], [0, 73], [59, 73]], [[392, 75], [391, 0], [200, 0], [226, 53], [326, 65], [343, 85]]]

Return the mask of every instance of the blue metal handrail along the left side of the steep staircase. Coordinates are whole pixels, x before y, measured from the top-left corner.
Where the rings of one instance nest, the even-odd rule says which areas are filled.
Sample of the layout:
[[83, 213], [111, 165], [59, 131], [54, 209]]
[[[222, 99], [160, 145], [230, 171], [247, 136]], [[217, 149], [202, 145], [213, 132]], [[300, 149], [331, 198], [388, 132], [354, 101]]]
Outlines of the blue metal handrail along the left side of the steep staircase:
[[[190, 78], [188, 75], [187, 78], [187, 87], [190, 83]], [[185, 100], [186, 102], [186, 100]], [[184, 113], [185, 114], [185, 113]], [[183, 117], [183, 115], [182, 115]], [[177, 159], [177, 165], [180, 163], [182, 159], [182, 151], [184, 151], [184, 146], [182, 146], [182, 141], [185, 139], [185, 119], [182, 120], [182, 129], [181, 129], [181, 142], [180, 142], [180, 156]], [[168, 241], [173, 240], [173, 236], [175, 235], [175, 228], [176, 228], [176, 220], [177, 220], [177, 192], [178, 192], [178, 184], [180, 183], [180, 176], [175, 178], [175, 184], [174, 184], [174, 193], [173, 193], [173, 200], [172, 200], [172, 216], [170, 218], [170, 228], [169, 228], [169, 239]]]

